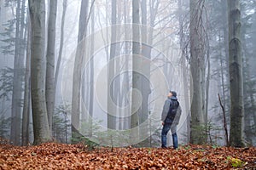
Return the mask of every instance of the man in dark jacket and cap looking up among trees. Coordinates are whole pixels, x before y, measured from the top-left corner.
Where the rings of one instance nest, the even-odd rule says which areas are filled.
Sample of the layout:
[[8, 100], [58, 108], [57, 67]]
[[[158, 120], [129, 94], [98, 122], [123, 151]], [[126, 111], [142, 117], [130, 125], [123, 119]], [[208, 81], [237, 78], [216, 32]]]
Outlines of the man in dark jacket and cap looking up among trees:
[[161, 116], [161, 121], [163, 125], [161, 133], [161, 147], [166, 148], [166, 135], [171, 129], [173, 148], [177, 149], [177, 124], [179, 122], [182, 111], [177, 101], [176, 92], [170, 91], [167, 97], [168, 99], [166, 99]]

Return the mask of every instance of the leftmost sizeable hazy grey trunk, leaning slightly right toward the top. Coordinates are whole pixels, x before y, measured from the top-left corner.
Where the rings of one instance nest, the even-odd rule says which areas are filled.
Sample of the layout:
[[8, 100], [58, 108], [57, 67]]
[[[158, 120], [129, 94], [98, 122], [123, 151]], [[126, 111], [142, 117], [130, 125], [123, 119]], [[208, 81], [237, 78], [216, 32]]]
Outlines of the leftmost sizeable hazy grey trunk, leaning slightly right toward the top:
[[12, 122], [10, 140], [14, 144], [20, 144], [21, 137], [21, 99], [25, 48], [25, 0], [17, 1], [16, 7], [16, 32], [15, 32], [15, 63], [14, 63], [14, 84], [12, 94]]

